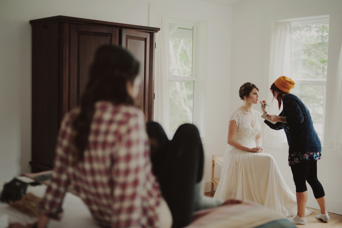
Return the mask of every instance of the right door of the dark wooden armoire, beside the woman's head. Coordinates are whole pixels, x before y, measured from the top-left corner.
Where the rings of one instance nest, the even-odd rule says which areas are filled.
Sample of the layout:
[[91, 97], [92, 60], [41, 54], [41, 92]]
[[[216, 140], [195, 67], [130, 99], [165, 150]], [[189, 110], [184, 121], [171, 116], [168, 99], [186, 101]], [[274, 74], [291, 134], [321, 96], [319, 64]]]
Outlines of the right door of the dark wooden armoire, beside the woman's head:
[[143, 109], [147, 121], [149, 116], [150, 33], [122, 29], [122, 46], [140, 62], [138, 77], [141, 78], [142, 83], [139, 88], [138, 104]]

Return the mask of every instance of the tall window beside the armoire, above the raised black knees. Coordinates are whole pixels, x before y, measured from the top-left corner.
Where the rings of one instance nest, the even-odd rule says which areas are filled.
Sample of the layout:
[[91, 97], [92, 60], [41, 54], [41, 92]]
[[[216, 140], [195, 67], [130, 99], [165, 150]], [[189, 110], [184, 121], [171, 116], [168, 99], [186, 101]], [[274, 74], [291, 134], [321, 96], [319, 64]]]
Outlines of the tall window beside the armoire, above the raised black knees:
[[183, 123], [193, 123], [203, 137], [204, 109], [198, 72], [198, 23], [169, 19], [170, 136]]

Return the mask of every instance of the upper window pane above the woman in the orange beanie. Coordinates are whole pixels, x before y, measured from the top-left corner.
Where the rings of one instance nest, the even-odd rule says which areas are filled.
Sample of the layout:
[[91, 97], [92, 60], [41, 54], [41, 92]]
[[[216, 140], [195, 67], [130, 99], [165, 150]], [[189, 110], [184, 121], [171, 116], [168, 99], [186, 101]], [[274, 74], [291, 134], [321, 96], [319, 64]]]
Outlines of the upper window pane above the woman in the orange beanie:
[[292, 26], [292, 79], [326, 79], [329, 23]]

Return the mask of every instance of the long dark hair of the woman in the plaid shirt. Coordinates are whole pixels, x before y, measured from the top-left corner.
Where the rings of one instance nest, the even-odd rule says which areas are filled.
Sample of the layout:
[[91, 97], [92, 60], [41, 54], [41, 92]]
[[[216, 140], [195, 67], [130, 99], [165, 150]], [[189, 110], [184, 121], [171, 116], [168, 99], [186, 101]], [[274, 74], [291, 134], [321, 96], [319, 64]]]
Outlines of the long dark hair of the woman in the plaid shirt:
[[126, 82], [132, 85], [139, 72], [139, 62], [127, 50], [112, 45], [97, 49], [90, 66], [89, 78], [80, 98], [80, 113], [74, 118], [75, 162], [82, 161], [87, 146], [90, 124], [97, 101], [109, 101], [113, 104], [133, 105], [128, 94]]

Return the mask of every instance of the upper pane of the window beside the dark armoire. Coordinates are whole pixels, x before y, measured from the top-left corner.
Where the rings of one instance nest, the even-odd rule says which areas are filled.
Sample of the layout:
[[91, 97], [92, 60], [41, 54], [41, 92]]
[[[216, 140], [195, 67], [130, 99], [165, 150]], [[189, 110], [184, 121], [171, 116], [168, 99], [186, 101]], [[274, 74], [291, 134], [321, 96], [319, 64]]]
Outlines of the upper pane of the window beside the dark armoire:
[[192, 77], [193, 27], [169, 23], [170, 76]]

